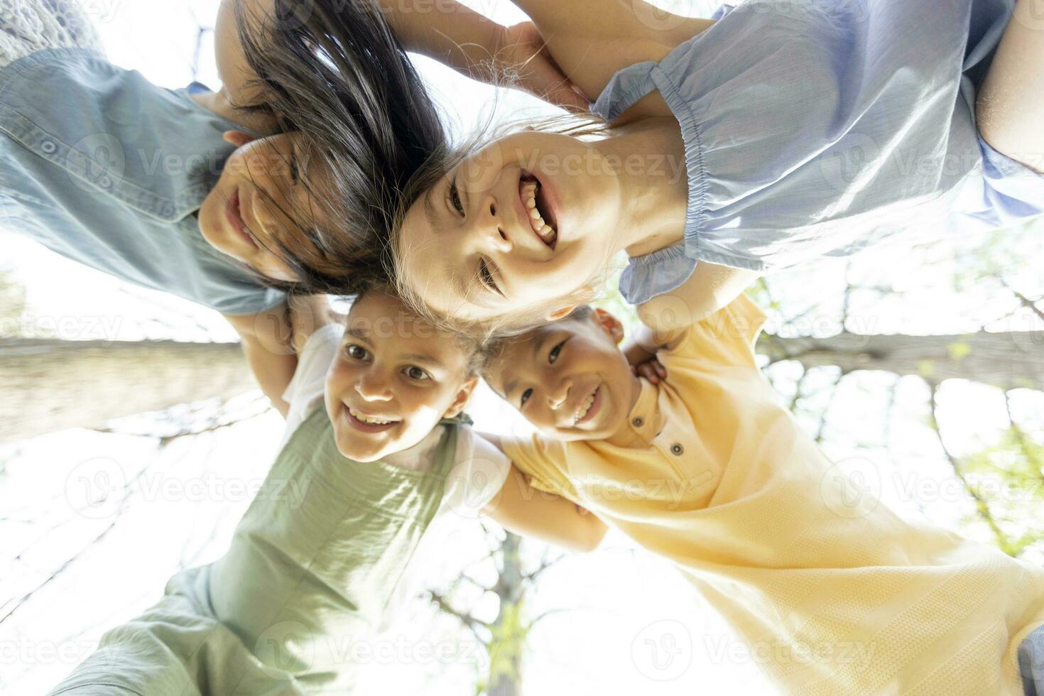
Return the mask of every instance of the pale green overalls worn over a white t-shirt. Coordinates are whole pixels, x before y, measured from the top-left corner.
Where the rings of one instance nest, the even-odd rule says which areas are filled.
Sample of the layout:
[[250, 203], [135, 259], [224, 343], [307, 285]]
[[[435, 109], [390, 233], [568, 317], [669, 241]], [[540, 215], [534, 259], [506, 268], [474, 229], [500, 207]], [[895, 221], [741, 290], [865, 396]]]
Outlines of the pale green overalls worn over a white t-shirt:
[[[444, 421], [451, 426], [467, 416]], [[318, 408], [290, 436], [219, 560], [108, 631], [52, 695], [346, 694], [443, 498], [458, 429], [428, 471], [337, 451]]]

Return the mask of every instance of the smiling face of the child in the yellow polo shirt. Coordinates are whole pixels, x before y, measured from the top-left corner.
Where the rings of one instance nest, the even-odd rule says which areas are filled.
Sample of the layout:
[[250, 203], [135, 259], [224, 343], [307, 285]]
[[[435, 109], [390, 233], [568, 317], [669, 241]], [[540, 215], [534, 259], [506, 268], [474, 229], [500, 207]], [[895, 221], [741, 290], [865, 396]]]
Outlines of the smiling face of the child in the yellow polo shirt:
[[485, 379], [544, 435], [607, 439], [626, 427], [640, 389], [622, 338], [604, 310], [555, 321], [505, 341]]

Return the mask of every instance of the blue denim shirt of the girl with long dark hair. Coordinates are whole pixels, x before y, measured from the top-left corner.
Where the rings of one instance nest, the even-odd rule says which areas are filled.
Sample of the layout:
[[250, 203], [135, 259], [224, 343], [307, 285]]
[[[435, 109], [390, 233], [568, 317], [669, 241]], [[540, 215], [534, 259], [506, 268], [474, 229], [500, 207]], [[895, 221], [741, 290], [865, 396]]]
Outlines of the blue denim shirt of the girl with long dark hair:
[[212, 247], [193, 215], [242, 129], [81, 48], [0, 70], [0, 222], [124, 281], [224, 314], [283, 302]]

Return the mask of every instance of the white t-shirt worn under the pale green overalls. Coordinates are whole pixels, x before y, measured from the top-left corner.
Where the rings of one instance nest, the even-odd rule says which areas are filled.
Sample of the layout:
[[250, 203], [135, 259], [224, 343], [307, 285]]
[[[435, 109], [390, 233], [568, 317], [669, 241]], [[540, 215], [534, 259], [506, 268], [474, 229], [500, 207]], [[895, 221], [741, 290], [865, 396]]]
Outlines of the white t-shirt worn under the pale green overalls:
[[[317, 330], [298, 355], [298, 368], [283, 392], [283, 400], [290, 405], [286, 414], [286, 433], [282, 448], [305, 418], [316, 408], [325, 408], [324, 386], [327, 369], [340, 345], [343, 327], [332, 323]], [[431, 453], [438, 447], [446, 426], [436, 426], [423, 440], [402, 452], [384, 457], [384, 462], [413, 471], [431, 465]], [[512, 462], [489, 440], [483, 439], [470, 426], [460, 426], [457, 433], [453, 466], [446, 478], [443, 502], [416, 550], [416, 559], [431, 558], [452, 535], [460, 519], [474, 519], [479, 511], [500, 493], [511, 471]], [[456, 519], [453, 519], [453, 515]], [[423, 565], [423, 563], [421, 563]], [[425, 577], [419, 563], [410, 563], [388, 602], [381, 630], [388, 627], [396, 610], [414, 596]]]

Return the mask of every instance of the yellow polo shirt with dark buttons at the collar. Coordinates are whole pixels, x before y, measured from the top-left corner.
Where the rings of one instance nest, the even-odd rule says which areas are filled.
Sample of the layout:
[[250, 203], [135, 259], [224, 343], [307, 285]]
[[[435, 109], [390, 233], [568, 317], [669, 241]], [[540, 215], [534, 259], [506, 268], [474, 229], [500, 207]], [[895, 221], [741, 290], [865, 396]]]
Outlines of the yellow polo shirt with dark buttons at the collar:
[[757, 367], [764, 318], [740, 296], [661, 352], [630, 441], [504, 452], [677, 563], [786, 693], [1022, 694], [1044, 569], [900, 520], [833, 466]]

